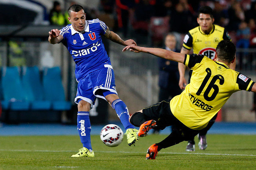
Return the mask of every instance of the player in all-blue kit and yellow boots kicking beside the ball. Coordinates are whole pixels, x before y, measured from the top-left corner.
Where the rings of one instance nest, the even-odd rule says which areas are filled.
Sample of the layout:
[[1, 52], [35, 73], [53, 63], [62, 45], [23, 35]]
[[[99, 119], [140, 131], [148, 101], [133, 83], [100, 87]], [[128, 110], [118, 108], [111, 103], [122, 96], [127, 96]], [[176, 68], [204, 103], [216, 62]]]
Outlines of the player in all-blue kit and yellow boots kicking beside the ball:
[[138, 130], [129, 122], [128, 108], [119, 99], [116, 92], [114, 71], [102, 43], [101, 35], [124, 46], [136, 45], [136, 42], [132, 39], [122, 40], [98, 19], [86, 21], [86, 13], [80, 5], [70, 6], [68, 15], [71, 24], [60, 30], [49, 31], [48, 41], [51, 44], [61, 42], [65, 45], [76, 63], [77, 128], [83, 147], [72, 157], [94, 157], [90, 141], [89, 111], [94, 106], [96, 97], [107, 100], [116, 111], [126, 129], [128, 145], [131, 146], [138, 140]]

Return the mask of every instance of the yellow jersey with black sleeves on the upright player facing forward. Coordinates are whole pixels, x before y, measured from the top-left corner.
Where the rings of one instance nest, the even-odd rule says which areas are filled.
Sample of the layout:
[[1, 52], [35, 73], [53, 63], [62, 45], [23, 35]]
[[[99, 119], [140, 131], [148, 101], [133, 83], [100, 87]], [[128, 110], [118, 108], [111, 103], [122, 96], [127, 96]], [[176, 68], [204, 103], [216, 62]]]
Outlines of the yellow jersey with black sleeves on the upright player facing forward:
[[188, 31], [183, 39], [183, 47], [190, 50], [193, 48], [193, 53], [202, 54], [210, 59], [214, 59], [216, 47], [221, 40], [230, 40], [231, 38], [224, 27], [213, 25], [209, 34], [205, 34], [200, 26]]

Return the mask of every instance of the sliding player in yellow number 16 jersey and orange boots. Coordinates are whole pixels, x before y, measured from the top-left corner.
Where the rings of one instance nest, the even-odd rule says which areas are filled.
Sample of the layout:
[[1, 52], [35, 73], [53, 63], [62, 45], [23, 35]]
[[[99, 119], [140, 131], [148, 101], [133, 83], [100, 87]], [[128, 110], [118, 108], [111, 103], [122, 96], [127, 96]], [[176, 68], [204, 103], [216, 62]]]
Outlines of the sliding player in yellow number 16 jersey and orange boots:
[[161, 149], [188, 141], [201, 130], [207, 129], [209, 121], [234, 92], [256, 92], [255, 82], [229, 68], [236, 59], [236, 46], [231, 41], [222, 40], [218, 43], [214, 60], [200, 54], [186, 55], [135, 45], [126, 46], [123, 51], [128, 49], [177, 61], [193, 70], [190, 84], [180, 95], [146, 107], [130, 117], [130, 123], [140, 127], [140, 137], [146, 136], [156, 126], [161, 129], [170, 125], [177, 127], [166, 139], [148, 148], [146, 159], [155, 159]]

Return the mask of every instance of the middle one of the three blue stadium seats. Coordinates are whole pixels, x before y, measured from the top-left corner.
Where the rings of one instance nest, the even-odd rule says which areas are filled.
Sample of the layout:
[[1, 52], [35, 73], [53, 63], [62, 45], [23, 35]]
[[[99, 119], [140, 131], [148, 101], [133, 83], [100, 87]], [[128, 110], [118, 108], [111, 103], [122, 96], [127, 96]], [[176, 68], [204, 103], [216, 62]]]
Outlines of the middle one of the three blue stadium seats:
[[51, 102], [44, 100], [40, 72], [37, 66], [22, 67], [22, 85], [26, 94], [26, 100], [31, 102], [32, 110], [48, 110]]

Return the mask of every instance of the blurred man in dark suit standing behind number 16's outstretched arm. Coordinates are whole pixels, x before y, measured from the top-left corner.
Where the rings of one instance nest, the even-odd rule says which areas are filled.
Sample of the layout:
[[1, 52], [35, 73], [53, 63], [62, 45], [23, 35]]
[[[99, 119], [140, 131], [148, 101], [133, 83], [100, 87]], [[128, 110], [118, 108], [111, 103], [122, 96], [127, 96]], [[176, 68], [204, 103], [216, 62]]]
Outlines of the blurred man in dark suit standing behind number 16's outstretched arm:
[[[176, 50], [176, 37], [172, 33], [168, 33], [165, 37], [165, 49], [179, 53], [180, 50]], [[181, 94], [182, 90], [179, 86], [180, 74], [178, 70], [178, 63], [175, 61], [158, 58], [159, 68], [159, 81], [160, 87], [158, 102], [174, 98]], [[153, 133], [159, 133], [159, 129], [154, 129]]]

